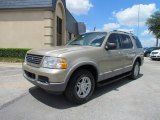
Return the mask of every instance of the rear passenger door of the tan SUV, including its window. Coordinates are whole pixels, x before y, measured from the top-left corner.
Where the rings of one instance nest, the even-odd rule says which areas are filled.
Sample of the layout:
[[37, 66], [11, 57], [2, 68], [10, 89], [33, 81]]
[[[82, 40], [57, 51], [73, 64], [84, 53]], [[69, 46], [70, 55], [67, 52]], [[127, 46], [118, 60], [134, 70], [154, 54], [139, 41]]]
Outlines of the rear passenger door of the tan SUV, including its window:
[[119, 34], [121, 39], [121, 49], [123, 56], [123, 67], [124, 69], [130, 70], [132, 68], [132, 63], [136, 55], [136, 51], [133, 49], [133, 43], [129, 35]]

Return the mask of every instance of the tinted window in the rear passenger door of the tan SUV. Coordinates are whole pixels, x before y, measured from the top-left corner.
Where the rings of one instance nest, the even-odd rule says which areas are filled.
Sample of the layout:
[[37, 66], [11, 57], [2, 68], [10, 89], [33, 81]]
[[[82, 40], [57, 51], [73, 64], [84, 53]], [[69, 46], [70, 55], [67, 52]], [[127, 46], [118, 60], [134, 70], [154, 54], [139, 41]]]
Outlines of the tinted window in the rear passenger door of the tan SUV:
[[133, 48], [132, 40], [128, 35], [120, 34], [120, 38], [121, 38], [121, 48], [122, 49]]

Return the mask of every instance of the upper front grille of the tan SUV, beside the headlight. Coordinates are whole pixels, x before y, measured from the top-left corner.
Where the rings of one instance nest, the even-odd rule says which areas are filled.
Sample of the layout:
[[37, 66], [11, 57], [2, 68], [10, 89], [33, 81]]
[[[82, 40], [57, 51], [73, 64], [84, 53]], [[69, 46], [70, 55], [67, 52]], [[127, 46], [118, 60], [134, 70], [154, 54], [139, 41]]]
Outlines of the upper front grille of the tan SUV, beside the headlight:
[[42, 55], [27, 54], [26, 56], [27, 63], [32, 63], [36, 65], [40, 65], [42, 59], [43, 59]]

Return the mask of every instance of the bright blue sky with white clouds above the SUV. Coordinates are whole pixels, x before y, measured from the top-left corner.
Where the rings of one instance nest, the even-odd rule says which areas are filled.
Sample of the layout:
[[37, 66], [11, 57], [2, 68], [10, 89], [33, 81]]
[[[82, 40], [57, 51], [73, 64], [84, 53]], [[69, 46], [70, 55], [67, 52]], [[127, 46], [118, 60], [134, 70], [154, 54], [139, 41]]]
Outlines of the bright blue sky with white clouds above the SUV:
[[97, 31], [132, 32], [144, 47], [155, 46], [156, 39], [145, 22], [160, 10], [159, 0], [66, 0], [66, 4], [76, 20], [86, 24], [87, 32], [94, 28]]

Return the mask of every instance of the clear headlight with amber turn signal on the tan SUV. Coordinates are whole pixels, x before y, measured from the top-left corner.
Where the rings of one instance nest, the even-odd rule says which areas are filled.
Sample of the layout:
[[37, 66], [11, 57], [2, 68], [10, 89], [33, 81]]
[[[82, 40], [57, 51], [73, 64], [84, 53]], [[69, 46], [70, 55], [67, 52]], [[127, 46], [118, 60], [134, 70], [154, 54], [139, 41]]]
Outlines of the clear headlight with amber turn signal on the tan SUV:
[[50, 69], [67, 69], [68, 64], [65, 58], [45, 57], [42, 67]]

